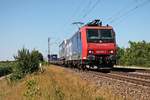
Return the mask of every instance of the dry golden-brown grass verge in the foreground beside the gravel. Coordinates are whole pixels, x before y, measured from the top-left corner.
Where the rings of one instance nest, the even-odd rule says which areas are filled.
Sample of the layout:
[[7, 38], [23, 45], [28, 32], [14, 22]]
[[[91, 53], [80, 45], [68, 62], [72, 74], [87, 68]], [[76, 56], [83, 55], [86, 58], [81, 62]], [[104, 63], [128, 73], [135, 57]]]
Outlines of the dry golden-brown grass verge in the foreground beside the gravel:
[[0, 100], [113, 100], [63, 68], [51, 65], [45, 69], [13, 84], [0, 80]]

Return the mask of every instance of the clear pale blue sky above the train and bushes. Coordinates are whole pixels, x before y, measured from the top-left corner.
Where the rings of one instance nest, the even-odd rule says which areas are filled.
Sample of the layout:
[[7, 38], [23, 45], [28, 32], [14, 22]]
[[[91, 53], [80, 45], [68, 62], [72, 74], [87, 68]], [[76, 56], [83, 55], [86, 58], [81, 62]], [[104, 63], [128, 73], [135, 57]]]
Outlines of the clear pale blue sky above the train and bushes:
[[0, 0], [0, 60], [12, 60], [26, 47], [47, 54], [77, 31], [71, 23], [101, 18], [114, 27], [117, 44], [150, 42], [150, 0]]

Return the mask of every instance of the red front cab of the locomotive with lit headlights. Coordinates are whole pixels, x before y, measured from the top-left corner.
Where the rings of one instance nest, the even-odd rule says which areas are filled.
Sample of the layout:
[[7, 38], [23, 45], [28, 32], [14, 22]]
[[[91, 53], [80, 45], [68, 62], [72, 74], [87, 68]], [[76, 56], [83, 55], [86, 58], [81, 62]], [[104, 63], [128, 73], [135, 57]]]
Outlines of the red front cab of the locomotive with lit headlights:
[[[111, 26], [101, 24], [88, 24], [81, 30], [83, 32], [82, 42], [83, 59], [86, 65], [98, 68], [112, 68], [116, 64], [116, 39], [115, 32]], [[86, 51], [86, 52], [85, 52]]]

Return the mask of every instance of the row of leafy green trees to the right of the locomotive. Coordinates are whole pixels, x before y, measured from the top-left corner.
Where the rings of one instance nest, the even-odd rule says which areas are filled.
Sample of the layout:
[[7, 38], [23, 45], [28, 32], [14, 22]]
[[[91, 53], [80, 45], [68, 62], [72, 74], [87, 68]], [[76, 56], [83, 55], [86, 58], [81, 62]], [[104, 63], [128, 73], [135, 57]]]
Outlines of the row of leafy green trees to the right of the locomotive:
[[150, 42], [129, 41], [129, 47], [117, 50], [117, 64], [150, 67]]

